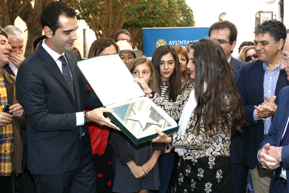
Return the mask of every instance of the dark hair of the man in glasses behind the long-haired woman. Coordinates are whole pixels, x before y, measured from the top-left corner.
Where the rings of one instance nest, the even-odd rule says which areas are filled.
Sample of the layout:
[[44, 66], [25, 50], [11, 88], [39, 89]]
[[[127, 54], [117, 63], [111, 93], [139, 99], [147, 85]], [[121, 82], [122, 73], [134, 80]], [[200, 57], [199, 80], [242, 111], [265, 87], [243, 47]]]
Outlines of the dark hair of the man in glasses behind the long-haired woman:
[[237, 41], [237, 34], [238, 34], [237, 27], [234, 23], [230, 21], [218, 21], [216, 23], [213, 23], [213, 25], [209, 27], [209, 36], [211, 35], [212, 30], [220, 30], [225, 28], [229, 28], [230, 30], [229, 41], [232, 42]]

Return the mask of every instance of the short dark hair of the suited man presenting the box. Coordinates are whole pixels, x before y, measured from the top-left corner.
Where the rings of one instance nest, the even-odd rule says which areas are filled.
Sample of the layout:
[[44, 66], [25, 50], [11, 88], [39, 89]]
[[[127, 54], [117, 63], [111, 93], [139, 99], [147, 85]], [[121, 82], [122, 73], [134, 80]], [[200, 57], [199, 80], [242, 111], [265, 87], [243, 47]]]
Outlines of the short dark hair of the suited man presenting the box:
[[73, 18], [76, 16], [75, 11], [65, 3], [61, 1], [53, 1], [43, 8], [41, 13], [40, 21], [42, 28], [45, 26], [52, 30], [52, 35], [54, 36], [56, 30], [61, 26], [59, 21], [59, 16], [63, 15], [68, 18]]

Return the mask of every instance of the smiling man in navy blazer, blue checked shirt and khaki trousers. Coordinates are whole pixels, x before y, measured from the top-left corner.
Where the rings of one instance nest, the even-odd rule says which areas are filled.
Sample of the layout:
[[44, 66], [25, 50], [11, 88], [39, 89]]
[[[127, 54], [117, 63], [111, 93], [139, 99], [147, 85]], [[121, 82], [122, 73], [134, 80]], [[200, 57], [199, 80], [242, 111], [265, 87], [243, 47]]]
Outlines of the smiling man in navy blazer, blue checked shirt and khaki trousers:
[[280, 70], [286, 27], [277, 20], [257, 25], [255, 51], [259, 60], [244, 65], [236, 82], [245, 110], [244, 165], [250, 169], [254, 192], [268, 192], [270, 171], [259, 171], [257, 150], [264, 135], [268, 135], [277, 111], [278, 94], [289, 85], [284, 70]]

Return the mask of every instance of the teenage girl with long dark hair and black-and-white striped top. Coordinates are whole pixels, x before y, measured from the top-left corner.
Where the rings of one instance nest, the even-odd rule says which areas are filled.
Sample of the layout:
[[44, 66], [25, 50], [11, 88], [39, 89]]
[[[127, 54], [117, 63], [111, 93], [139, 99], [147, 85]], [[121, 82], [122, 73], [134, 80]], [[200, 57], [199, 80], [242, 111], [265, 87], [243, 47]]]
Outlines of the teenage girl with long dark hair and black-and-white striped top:
[[[151, 62], [153, 63], [152, 89], [161, 96], [173, 102], [177, 99], [181, 89], [180, 64], [176, 50], [171, 45], [163, 45], [155, 49]], [[167, 145], [165, 155], [160, 156], [160, 193], [166, 193], [173, 171], [175, 153], [173, 147]]]

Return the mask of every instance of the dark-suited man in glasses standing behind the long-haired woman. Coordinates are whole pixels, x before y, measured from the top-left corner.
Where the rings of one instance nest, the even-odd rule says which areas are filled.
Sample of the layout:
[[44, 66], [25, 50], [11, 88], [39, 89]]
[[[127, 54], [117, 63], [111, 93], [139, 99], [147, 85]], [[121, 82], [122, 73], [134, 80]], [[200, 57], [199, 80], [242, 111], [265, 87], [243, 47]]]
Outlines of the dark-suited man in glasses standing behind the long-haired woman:
[[[224, 50], [228, 63], [233, 68], [234, 80], [239, 77], [239, 72], [246, 62], [233, 58], [231, 53], [236, 46], [237, 27], [229, 21], [219, 21], [209, 28], [209, 36], [216, 40]], [[231, 131], [230, 157], [232, 163], [232, 177], [234, 192], [246, 192], [247, 172], [243, 165], [244, 134], [236, 130]], [[241, 179], [241, 180], [240, 180]]]

